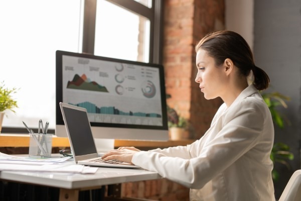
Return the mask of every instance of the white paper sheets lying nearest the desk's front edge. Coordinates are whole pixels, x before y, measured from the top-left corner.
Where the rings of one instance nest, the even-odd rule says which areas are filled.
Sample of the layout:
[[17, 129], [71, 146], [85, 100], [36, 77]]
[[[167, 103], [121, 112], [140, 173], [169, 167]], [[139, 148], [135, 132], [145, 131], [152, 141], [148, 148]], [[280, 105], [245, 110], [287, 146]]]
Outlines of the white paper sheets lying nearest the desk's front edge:
[[64, 172], [64, 173], [81, 173], [94, 174], [97, 167], [89, 167], [84, 165], [25, 165], [25, 164], [10, 164], [1, 163], [0, 171], [35, 171], [35, 172]]

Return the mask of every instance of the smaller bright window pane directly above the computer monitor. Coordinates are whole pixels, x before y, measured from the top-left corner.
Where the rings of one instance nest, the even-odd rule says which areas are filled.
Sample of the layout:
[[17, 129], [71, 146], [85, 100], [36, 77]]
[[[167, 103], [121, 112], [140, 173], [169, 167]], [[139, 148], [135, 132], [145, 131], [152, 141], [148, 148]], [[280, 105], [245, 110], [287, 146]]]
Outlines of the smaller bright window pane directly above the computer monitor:
[[95, 55], [149, 61], [147, 18], [107, 1], [98, 1], [96, 11]]

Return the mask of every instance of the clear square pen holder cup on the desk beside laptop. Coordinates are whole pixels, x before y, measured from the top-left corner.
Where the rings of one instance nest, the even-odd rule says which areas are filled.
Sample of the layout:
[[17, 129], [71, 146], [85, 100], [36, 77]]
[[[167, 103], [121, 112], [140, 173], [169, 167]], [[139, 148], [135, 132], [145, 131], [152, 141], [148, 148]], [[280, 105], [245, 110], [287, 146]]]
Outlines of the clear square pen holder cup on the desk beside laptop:
[[29, 134], [29, 157], [51, 157], [52, 135]]

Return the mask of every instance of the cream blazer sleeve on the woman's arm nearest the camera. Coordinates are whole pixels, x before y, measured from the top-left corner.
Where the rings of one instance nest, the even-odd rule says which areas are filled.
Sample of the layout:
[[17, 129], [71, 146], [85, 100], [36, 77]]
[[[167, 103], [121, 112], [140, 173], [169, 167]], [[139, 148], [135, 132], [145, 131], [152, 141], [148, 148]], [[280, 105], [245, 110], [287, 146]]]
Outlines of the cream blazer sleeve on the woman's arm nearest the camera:
[[[141, 151], [133, 155], [132, 163], [190, 188], [202, 188], [218, 173], [233, 164], [254, 147], [262, 134], [262, 108], [253, 103], [240, 103], [228, 111], [224, 126], [198, 150], [189, 146], [197, 157], [170, 157], [160, 152]], [[214, 130], [214, 129], [213, 129]]]

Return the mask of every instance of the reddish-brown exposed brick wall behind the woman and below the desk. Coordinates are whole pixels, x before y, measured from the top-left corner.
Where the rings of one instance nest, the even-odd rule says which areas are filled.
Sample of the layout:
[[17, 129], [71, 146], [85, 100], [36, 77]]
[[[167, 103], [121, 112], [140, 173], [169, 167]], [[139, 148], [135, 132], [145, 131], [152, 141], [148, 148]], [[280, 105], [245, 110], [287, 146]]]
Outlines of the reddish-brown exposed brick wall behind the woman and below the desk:
[[[192, 137], [210, 127], [220, 98], [206, 100], [195, 82], [194, 47], [205, 34], [224, 29], [224, 0], [166, 0], [164, 67], [168, 105], [192, 124]], [[122, 184], [122, 196], [153, 200], [189, 200], [189, 189], [168, 179]]]

